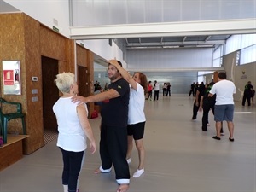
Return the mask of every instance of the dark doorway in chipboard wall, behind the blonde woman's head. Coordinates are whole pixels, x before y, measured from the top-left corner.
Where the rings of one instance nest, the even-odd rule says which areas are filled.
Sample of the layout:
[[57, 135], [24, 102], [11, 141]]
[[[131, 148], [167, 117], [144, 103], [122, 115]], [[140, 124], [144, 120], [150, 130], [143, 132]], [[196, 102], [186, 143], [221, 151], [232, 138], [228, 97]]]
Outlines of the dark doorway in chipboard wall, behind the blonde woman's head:
[[52, 107], [59, 99], [59, 90], [54, 83], [56, 74], [58, 73], [58, 61], [42, 56], [44, 131], [49, 130], [57, 132], [57, 121]]

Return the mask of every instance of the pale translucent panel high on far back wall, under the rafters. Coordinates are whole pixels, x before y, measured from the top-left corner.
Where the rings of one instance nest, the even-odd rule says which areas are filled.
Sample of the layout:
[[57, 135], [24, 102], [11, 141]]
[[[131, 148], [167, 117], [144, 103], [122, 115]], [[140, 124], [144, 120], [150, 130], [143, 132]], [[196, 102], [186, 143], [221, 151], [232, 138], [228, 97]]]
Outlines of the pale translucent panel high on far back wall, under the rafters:
[[212, 49], [129, 49], [125, 52], [128, 68], [191, 69], [212, 67]]

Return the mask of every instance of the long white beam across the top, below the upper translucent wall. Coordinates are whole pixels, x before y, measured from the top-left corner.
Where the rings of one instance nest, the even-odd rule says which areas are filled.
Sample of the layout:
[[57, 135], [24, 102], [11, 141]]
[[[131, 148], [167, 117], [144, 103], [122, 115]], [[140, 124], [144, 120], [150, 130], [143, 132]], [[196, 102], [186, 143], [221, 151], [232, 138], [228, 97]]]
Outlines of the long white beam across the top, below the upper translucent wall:
[[192, 35], [224, 35], [256, 32], [256, 19], [208, 20], [114, 26], [70, 27], [70, 38], [154, 38]]

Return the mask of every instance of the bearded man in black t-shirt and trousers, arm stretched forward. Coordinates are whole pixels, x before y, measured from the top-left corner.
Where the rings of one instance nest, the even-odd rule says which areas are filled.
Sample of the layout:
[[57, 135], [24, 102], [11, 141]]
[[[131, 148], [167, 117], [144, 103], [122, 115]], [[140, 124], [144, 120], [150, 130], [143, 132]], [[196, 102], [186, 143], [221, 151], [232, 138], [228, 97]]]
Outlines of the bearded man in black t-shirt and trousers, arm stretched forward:
[[[119, 65], [122, 63], [118, 61]], [[102, 102], [101, 108], [101, 141], [100, 155], [102, 166], [95, 173], [115, 171], [116, 182], [119, 184], [117, 192], [129, 189], [130, 171], [126, 160], [127, 154], [127, 122], [130, 97], [129, 84], [122, 78], [119, 70], [108, 63], [108, 90], [95, 96], [73, 96], [73, 102]]]

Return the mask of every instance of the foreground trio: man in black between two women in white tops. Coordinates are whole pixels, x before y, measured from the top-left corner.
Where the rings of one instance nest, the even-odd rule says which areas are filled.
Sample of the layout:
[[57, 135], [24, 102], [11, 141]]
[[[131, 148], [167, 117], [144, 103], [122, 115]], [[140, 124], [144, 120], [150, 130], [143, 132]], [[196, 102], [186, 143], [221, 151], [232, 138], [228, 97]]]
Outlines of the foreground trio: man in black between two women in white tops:
[[[145, 94], [148, 80], [143, 73], [133, 77], [125, 71], [117, 60], [108, 61], [108, 90], [94, 96], [76, 96], [78, 85], [73, 73], [61, 73], [55, 79], [63, 96], [55, 103], [53, 110], [58, 124], [57, 146], [63, 154], [62, 184], [64, 192], [79, 191], [78, 177], [84, 162], [86, 137], [90, 140], [90, 151], [95, 153], [96, 142], [87, 119], [87, 102], [102, 104], [100, 125], [100, 156], [102, 165], [95, 173], [111, 172], [114, 167], [117, 192], [126, 192], [130, 184], [129, 163], [133, 140], [135, 141], [139, 165], [133, 177], [144, 172], [145, 149], [143, 135], [146, 123], [144, 114]], [[131, 85], [131, 89], [129, 87]]]

